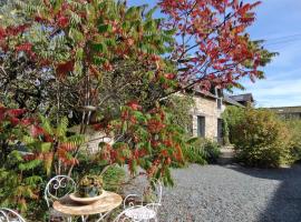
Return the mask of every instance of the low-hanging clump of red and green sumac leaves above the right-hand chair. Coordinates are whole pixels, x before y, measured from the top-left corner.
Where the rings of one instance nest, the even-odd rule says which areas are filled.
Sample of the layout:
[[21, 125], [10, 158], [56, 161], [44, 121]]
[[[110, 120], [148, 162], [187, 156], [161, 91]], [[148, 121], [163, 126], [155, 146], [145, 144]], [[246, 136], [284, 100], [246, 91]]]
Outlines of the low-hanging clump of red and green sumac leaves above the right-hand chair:
[[139, 167], [148, 178], [173, 184], [169, 165], [173, 162], [184, 163], [182, 149], [185, 141], [183, 130], [171, 123], [164, 108], [157, 105], [144, 112], [139, 104], [130, 102], [122, 108], [122, 118], [106, 128], [115, 130], [116, 140], [113, 145], [100, 143], [101, 159], [110, 164], [128, 164], [132, 174]]

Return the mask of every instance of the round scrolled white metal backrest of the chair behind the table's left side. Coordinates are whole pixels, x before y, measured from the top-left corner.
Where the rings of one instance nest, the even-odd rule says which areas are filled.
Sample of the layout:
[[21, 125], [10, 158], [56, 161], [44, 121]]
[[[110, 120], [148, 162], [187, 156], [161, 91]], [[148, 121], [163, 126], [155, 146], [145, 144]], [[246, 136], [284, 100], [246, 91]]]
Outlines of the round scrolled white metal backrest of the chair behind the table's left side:
[[65, 198], [75, 191], [76, 182], [70, 176], [56, 175], [47, 183], [43, 198], [50, 208], [50, 202]]

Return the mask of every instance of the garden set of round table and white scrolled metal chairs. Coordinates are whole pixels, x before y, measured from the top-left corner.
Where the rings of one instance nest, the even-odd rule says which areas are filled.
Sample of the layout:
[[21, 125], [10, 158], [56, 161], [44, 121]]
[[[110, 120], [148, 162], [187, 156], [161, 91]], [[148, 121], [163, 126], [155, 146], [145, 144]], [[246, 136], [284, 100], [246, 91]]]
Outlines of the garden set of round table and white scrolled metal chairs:
[[[95, 222], [101, 222], [123, 203], [120, 212], [114, 222], [157, 222], [157, 211], [162, 202], [162, 184], [152, 181], [154, 193], [145, 203], [146, 195], [129, 194], [124, 200], [117, 193], [103, 191], [101, 195], [86, 199], [87, 202], [77, 202], [72, 194], [76, 192], [76, 182], [67, 175], [57, 175], [46, 185], [45, 200], [49, 208], [49, 215], [55, 221], [71, 222], [72, 218], [88, 221], [89, 215], [97, 215]], [[149, 189], [147, 190], [149, 194]], [[137, 203], [139, 198], [139, 204]], [[84, 199], [85, 200], [85, 199]], [[145, 204], [144, 204], [145, 203]], [[21, 215], [10, 209], [0, 209], [0, 222], [26, 222]]]

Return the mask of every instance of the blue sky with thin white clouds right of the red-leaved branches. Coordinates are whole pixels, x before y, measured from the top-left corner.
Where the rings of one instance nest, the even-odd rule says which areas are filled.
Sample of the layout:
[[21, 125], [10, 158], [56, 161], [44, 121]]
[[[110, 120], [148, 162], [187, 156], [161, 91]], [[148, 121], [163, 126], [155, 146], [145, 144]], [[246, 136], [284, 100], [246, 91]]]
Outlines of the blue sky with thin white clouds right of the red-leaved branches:
[[[155, 6], [156, 0], [128, 2]], [[252, 92], [258, 107], [301, 105], [301, 0], [263, 0], [256, 13], [251, 37], [266, 40], [265, 47], [280, 54], [263, 69], [264, 80], [242, 80], [246, 90], [235, 93]]]

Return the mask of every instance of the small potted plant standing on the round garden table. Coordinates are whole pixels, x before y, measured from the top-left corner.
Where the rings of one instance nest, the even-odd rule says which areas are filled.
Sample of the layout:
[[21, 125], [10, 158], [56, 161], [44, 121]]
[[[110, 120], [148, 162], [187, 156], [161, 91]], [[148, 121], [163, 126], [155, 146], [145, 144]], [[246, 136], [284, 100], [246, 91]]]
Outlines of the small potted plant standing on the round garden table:
[[78, 196], [94, 198], [103, 193], [103, 178], [100, 175], [85, 175], [78, 184]]

